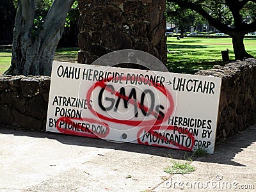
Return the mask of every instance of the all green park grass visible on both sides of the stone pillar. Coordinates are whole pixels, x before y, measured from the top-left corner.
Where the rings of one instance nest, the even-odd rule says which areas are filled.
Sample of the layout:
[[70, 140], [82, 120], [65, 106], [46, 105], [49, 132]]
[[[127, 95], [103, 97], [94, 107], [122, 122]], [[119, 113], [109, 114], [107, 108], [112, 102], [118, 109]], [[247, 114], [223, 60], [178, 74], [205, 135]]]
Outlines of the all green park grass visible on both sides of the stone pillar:
[[[256, 56], [256, 37], [244, 38], [246, 51]], [[235, 60], [232, 38], [167, 38], [168, 62], [170, 72], [195, 74], [198, 70], [212, 68], [214, 65], [225, 65], [221, 51], [229, 50], [230, 61]], [[77, 47], [58, 48], [54, 60], [77, 62]], [[0, 50], [0, 74], [10, 67], [11, 49]]]

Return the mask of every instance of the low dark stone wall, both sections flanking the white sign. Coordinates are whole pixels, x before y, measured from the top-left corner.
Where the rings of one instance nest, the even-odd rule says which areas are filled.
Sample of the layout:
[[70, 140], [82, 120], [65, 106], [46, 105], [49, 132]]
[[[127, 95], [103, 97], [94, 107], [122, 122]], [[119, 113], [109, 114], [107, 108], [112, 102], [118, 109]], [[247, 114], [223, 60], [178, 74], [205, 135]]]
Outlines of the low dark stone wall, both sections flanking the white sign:
[[[256, 122], [256, 60], [237, 61], [197, 73], [222, 78], [217, 141]], [[0, 125], [45, 130], [50, 77], [0, 76]]]

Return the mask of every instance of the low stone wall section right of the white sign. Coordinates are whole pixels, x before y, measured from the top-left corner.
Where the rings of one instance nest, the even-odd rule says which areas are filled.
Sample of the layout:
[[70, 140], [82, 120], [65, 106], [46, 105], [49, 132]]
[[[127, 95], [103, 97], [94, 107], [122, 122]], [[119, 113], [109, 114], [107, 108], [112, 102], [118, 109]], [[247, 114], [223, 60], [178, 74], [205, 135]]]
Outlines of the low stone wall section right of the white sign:
[[214, 66], [196, 74], [221, 77], [217, 143], [256, 122], [256, 60]]

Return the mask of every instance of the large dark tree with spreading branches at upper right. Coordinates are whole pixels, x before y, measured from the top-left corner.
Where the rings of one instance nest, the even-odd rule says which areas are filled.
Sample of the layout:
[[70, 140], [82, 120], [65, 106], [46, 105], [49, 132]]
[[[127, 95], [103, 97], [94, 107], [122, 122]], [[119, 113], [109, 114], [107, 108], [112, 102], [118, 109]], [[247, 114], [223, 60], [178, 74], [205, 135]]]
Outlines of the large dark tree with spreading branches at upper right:
[[[208, 20], [211, 26], [232, 37], [236, 60], [250, 58], [243, 39], [256, 31], [256, 0], [167, 0], [180, 8], [188, 8]], [[169, 12], [166, 13], [170, 15]], [[246, 18], [246, 19], [244, 19]]]

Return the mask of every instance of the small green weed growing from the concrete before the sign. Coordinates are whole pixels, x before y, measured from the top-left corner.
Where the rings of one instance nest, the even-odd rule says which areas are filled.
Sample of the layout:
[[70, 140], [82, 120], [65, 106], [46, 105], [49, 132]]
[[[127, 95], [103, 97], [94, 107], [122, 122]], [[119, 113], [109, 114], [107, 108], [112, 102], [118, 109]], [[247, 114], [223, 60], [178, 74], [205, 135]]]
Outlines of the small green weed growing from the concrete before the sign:
[[174, 161], [172, 166], [164, 168], [164, 172], [170, 174], [186, 174], [194, 172], [195, 168], [190, 163], [179, 163], [179, 161]]

